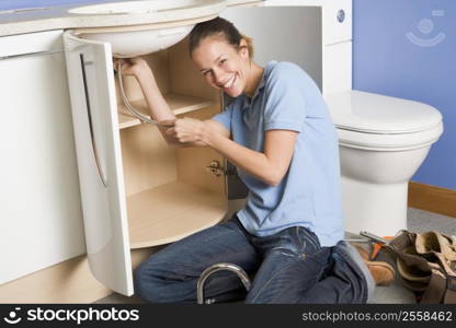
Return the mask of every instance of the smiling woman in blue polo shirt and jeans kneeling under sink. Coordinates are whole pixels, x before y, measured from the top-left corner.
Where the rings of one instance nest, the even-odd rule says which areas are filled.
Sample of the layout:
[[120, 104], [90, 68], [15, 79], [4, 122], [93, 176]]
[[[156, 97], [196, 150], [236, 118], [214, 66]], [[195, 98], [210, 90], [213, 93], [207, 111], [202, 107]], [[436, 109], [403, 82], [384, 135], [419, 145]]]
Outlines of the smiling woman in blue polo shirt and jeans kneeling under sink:
[[[195, 302], [200, 274], [232, 262], [255, 276], [247, 303], [366, 302], [366, 268], [333, 251], [343, 237], [338, 140], [318, 86], [294, 63], [256, 65], [252, 42], [220, 17], [197, 24], [189, 45], [206, 82], [235, 98], [212, 119], [176, 118], [144, 59], [117, 61], [139, 82], [164, 139], [220, 153], [249, 195], [230, 221], [141, 263], [135, 290], [152, 303]], [[206, 295], [227, 301], [241, 290], [236, 277], [219, 274]]]

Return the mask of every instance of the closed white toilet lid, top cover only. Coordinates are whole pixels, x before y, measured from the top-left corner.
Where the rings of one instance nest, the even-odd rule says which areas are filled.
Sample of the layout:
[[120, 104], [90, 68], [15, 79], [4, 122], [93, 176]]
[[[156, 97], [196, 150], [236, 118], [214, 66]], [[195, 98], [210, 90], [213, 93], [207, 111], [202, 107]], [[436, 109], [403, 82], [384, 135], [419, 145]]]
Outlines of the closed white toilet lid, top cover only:
[[355, 90], [324, 98], [339, 129], [395, 134], [424, 131], [442, 121], [437, 109], [413, 101]]

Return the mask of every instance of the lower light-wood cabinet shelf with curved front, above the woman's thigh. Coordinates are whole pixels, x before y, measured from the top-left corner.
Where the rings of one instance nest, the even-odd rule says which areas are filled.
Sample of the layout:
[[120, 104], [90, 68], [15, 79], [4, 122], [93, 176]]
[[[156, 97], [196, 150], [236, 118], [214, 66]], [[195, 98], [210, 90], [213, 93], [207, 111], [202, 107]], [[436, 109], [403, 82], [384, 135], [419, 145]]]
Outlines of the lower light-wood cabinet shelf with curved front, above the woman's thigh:
[[220, 222], [225, 195], [172, 181], [127, 198], [130, 248], [162, 245]]

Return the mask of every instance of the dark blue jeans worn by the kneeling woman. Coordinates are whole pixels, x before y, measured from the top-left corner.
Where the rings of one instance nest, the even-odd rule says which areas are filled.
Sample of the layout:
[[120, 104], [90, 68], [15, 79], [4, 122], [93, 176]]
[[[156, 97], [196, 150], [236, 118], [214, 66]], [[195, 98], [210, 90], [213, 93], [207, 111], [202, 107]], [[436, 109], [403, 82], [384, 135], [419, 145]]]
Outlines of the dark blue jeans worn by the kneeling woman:
[[364, 265], [360, 259], [352, 259], [346, 244], [342, 246], [321, 247], [318, 237], [301, 226], [258, 237], [235, 215], [152, 255], [136, 269], [135, 290], [150, 303], [196, 303], [200, 274], [212, 265], [230, 262], [254, 277], [251, 290], [246, 293], [235, 273], [219, 271], [206, 281], [206, 298], [263, 304], [365, 303], [371, 283], [367, 271], [360, 268]]

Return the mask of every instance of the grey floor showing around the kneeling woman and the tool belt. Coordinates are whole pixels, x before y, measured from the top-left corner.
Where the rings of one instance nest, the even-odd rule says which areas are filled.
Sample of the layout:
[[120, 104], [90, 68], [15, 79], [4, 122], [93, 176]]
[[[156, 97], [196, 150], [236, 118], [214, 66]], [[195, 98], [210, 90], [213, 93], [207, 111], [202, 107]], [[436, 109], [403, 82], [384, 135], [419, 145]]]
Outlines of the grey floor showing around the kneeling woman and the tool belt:
[[[417, 233], [434, 230], [448, 235], [456, 235], [456, 219], [410, 208], [408, 211], [408, 229], [409, 231]], [[380, 254], [378, 259], [392, 263], [389, 257], [385, 254]], [[144, 302], [137, 296], [126, 297], [113, 293], [96, 301], [95, 303], [139, 304]], [[396, 281], [391, 285], [377, 286], [369, 303], [407, 304], [415, 302], [412, 292], [406, 290], [400, 283], [400, 278], [397, 277]]]

